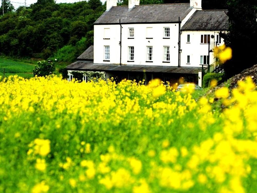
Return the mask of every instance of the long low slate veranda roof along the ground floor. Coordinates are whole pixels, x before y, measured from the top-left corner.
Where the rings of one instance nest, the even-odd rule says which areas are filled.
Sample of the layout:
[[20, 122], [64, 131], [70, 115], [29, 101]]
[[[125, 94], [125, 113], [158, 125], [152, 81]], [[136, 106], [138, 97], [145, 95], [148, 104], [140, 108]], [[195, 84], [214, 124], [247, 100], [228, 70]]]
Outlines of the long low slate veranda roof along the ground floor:
[[117, 65], [117, 64], [95, 64], [93, 62], [77, 61], [68, 66], [67, 70], [80, 71], [130, 71], [130, 72], [160, 72], [178, 74], [198, 74], [201, 67], [176, 67], [176, 66], [146, 66], [146, 65]]

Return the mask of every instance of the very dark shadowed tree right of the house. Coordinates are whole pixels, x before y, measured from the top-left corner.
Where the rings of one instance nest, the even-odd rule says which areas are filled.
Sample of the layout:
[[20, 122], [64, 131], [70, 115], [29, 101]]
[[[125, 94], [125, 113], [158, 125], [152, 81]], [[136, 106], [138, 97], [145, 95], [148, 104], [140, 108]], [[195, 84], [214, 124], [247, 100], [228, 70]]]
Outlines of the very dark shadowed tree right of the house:
[[224, 64], [227, 78], [257, 64], [257, 0], [228, 0], [229, 33], [225, 44], [233, 50], [232, 60]]

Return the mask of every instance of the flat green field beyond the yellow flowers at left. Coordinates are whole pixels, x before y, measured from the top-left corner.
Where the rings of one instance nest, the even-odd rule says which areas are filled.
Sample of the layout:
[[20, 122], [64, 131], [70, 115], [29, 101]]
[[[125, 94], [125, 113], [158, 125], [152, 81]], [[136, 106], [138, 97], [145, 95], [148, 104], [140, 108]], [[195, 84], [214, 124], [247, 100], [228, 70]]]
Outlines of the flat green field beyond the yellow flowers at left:
[[0, 76], [18, 75], [24, 78], [33, 77], [32, 70], [34, 64], [13, 61], [10, 59], [0, 58]]

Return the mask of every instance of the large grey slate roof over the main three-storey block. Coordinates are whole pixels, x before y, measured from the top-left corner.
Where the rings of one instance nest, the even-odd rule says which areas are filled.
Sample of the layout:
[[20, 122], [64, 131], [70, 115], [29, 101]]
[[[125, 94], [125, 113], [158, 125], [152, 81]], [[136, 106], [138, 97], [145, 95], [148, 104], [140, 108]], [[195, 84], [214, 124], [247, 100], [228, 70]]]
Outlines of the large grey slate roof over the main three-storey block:
[[128, 6], [114, 6], [105, 11], [96, 21], [97, 24], [121, 23], [170, 23], [182, 21], [192, 10], [190, 3], [136, 5], [132, 9]]

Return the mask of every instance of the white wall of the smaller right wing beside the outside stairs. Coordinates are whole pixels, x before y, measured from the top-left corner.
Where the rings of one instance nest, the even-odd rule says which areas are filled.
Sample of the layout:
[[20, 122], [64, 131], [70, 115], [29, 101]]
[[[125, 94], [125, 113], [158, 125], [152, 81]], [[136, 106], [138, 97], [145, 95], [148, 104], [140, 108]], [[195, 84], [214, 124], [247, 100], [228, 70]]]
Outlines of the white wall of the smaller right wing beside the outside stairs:
[[[190, 35], [190, 43], [187, 43], [187, 35]], [[201, 67], [200, 56], [208, 56], [208, 43], [201, 43], [201, 35], [210, 34], [214, 35], [214, 38], [210, 38], [210, 42], [216, 42], [219, 31], [182, 31], [181, 33], [181, 63], [180, 66], [187, 67]], [[221, 39], [221, 43], [217, 46], [224, 44], [224, 40]], [[187, 56], [190, 56], [190, 64], [187, 64]], [[210, 64], [214, 63], [214, 54], [210, 52]]]

